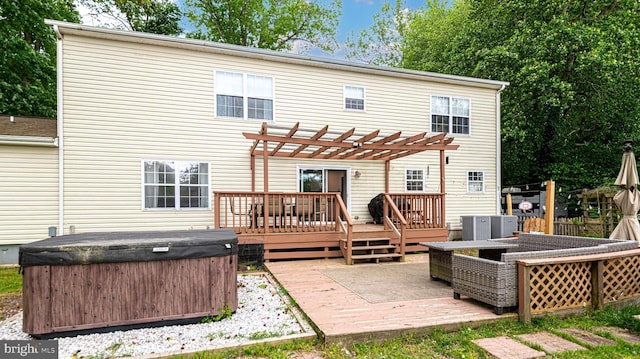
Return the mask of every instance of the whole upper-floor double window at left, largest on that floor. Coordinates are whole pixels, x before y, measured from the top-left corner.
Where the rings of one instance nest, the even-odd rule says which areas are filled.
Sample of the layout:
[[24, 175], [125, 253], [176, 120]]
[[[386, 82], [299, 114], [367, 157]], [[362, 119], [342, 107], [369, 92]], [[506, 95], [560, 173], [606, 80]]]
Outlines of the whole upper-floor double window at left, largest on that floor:
[[273, 120], [273, 77], [215, 72], [216, 115]]

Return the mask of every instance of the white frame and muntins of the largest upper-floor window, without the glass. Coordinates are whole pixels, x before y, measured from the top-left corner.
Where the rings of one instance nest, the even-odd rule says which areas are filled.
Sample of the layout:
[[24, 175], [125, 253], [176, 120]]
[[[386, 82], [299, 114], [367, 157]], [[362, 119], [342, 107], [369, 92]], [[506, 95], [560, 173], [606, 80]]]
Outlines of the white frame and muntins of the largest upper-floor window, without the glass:
[[[242, 75], [242, 89], [240, 90], [240, 88], [236, 88], [233, 90], [229, 90], [229, 89], [225, 89], [223, 88], [223, 84], [218, 81], [217, 79], [219, 78], [219, 74], [221, 73], [227, 73], [227, 74], [233, 74], [233, 75]], [[250, 86], [250, 82], [252, 78], [265, 78], [265, 79], [269, 79], [271, 82], [271, 89], [270, 91], [268, 91], [268, 93], [259, 93], [259, 89], [256, 88], [252, 88]], [[271, 75], [263, 75], [263, 74], [255, 74], [255, 73], [245, 73], [245, 72], [239, 72], [239, 71], [230, 71], [230, 70], [215, 70], [213, 73], [213, 79], [214, 79], [214, 111], [215, 111], [215, 115], [216, 117], [220, 117], [220, 118], [229, 118], [229, 119], [240, 119], [240, 120], [257, 120], [257, 121], [275, 121], [275, 108], [276, 108], [276, 101], [275, 101], [275, 77], [271, 76]], [[257, 92], [255, 90], [258, 90]], [[220, 115], [218, 114], [218, 95], [220, 96], [236, 96], [236, 97], [242, 97], [242, 117], [239, 116], [224, 116], [224, 115]], [[249, 100], [250, 99], [258, 99], [258, 100], [266, 100], [266, 101], [271, 101], [271, 118], [254, 118], [254, 117], [250, 117], [250, 111], [249, 111]]]

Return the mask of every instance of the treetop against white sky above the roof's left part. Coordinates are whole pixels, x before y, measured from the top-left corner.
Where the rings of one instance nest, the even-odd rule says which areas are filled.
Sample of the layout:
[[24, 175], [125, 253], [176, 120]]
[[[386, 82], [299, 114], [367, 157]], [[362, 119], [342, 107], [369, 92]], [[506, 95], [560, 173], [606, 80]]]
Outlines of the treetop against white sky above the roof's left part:
[[[182, 12], [171, 0], [80, 0], [103, 26], [163, 35], [180, 35]], [[107, 19], [104, 23], [103, 19]]]

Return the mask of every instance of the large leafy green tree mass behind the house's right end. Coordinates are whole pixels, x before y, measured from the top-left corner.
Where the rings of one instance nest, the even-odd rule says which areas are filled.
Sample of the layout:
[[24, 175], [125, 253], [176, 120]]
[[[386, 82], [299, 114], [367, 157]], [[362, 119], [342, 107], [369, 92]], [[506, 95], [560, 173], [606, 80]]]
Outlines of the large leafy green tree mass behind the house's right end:
[[457, 34], [445, 31], [449, 44], [418, 16], [404, 65], [511, 83], [502, 96], [502, 183], [582, 188], [615, 177], [622, 140], [640, 134], [640, 3], [466, 3], [464, 23], [445, 15], [459, 24]]

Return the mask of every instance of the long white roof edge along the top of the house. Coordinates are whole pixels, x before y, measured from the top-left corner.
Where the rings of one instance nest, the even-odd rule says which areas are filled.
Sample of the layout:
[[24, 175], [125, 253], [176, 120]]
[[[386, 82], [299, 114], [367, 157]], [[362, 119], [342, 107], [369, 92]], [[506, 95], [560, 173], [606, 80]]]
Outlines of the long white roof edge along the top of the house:
[[436, 72], [425, 72], [417, 70], [408, 70], [394, 67], [384, 67], [369, 65], [365, 63], [349, 62], [337, 59], [328, 59], [321, 57], [312, 57], [298, 55], [293, 53], [278, 52], [273, 50], [252, 48], [239, 45], [224, 44], [212, 41], [187, 39], [175, 36], [150, 34], [144, 32], [125, 31], [117, 29], [108, 29], [95, 26], [88, 26], [57, 20], [45, 20], [45, 24], [57, 27], [60, 34], [71, 34], [79, 36], [87, 36], [94, 38], [104, 38], [111, 40], [127, 41], [133, 43], [155, 44], [167, 47], [185, 48], [191, 50], [207, 51], [214, 53], [229, 54], [233, 56], [241, 56], [248, 58], [258, 58], [263, 60], [295, 63], [307, 66], [323, 67], [337, 70], [357, 71], [364, 73], [372, 73], [378, 75], [428, 79], [435, 82], [471, 85], [474, 87], [483, 87], [501, 91], [508, 82], [481, 79], [475, 77], [457, 76], [441, 74]]

